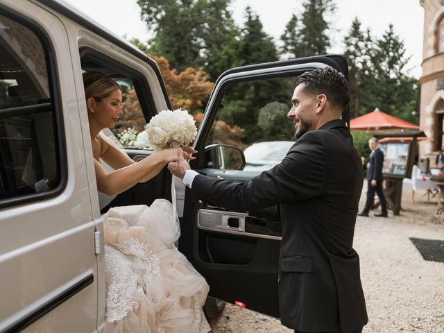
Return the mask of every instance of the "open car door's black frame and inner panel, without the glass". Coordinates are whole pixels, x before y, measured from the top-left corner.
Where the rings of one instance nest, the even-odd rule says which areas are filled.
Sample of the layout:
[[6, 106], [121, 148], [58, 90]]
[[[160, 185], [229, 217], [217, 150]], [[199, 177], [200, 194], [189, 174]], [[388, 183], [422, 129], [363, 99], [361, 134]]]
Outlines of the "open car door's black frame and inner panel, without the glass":
[[[216, 111], [230, 85], [248, 80], [293, 77], [325, 66], [332, 66], [348, 75], [347, 63], [341, 56], [286, 60], [226, 71], [216, 82], [194, 148], [205, 151], [205, 141]], [[289, 101], [291, 94], [289, 91]], [[348, 110], [342, 117], [348, 122]], [[191, 162], [191, 168], [205, 176], [221, 176], [243, 182], [259, 174], [256, 171], [207, 168], [205, 155], [209, 156], [197, 155], [197, 159]], [[232, 303], [240, 301], [248, 309], [279, 317], [278, 262], [282, 228], [278, 205], [255, 212], [230, 212], [223, 207], [214, 207], [205, 198], [199, 199], [194, 201], [189, 189], [185, 192], [179, 245], [207, 279], [210, 295]]]

